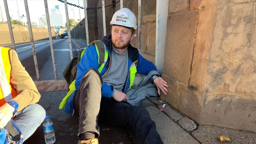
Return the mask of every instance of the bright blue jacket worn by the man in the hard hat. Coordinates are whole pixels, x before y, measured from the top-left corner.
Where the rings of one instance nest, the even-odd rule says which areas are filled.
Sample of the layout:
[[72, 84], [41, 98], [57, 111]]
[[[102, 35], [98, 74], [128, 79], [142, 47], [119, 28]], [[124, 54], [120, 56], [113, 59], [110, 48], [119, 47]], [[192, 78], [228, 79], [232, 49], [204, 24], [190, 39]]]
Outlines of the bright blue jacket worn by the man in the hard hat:
[[[111, 65], [111, 51], [112, 51], [112, 42], [111, 42], [111, 36], [104, 36], [102, 38], [103, 43], [106, 46], [106, 50], [108, 51], [108, 58], [104, 62], [105, 65], [100, 72], [101, 76], [104, 77], [104, 75], [108, 72], [108, 69]], [[125, 86], [122, 90], [123, 93], [126, 93], [130, 88], [130, 68], [133, 65], [136, 65], [136, 73], [147, 75], [150, 71], [156, 70], [155, 66], [152, 62], [144, 59], [138, 52], [138, 50], [134, 47], [132, 47], [130, 44], [128, 45], [128, 73], [125, 81]], [[76, 81], [75, 81], [75, 88], [76, 90], [69, 96], [67, 99], [66, 105], [65, 105], [65, 112], [73, 115], [73, 99], [74, 96], [79, 88], [81, 79], [84, 75], [84, 73], [90, 69], [90, 68], [99, 68], [99, 56], [96, 51], [96, 47], [94, 44], [88, 46], [81, 58], [81, 61], [78, 63], [77, 67], [77, 75], [76, 75]], [[108, 97], [111, 98], [114, 91], [114, 87], [112, 85], [103, 84], [102, 85], [102, 97]]]

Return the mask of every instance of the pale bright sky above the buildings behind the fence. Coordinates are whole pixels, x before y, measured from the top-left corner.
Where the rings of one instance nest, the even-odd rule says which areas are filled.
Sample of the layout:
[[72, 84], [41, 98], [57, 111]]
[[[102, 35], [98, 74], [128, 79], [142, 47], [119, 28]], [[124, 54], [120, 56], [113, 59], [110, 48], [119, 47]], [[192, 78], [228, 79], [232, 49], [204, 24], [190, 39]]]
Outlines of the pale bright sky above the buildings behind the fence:
[[[79, 6], [84, 7], [83, 0], [67, 0], [67, 2], [76, 4], [76, 5], [78, 5], [78, 1], [79, 1]], [[42, 17], [42, 15], [45, 15], [44, 0], [27, 0], [27, 2], [28, 2], [30, 21], [37, 22], [37, 25], [38, 25], [39, 24], [38, 18]], [[66, 23], [66, 13], [65, 13], [64, 3], [62, 3], [58, 0], [47, 0], [47, 3], [48, 3], [49, 14], [51, 14], [51, 9], [55, 8], [55, 5], [59, 5], [59, 10], [63, 17], [63, 24], [65, 24]], [[19, 20], [18, 12], [21, 17], [22, 17], [22, 15], [26, 16], [24, 0], [7, 0], [7, 4], [8, 4], [10, 17], [12, 17], [13, 20]], [[77, 22], [77, 19], [80, 19], [79, 9], [80, 9], [81, 19], [83, 19], [84, 18], [84, 9], [81, 9], [81, 8], [78, 8], [75, 6], [71, 6], [68, 4], [69, 18], [70, 19], [75, 18], [75, 21]], [[7, 21], [3, 0], [0, 0], [0, 21], [2, 21], [1, 15], [3, 15], [3, 21]], [[27, 17], [20, 18], [20, 21], [26, 23]]]

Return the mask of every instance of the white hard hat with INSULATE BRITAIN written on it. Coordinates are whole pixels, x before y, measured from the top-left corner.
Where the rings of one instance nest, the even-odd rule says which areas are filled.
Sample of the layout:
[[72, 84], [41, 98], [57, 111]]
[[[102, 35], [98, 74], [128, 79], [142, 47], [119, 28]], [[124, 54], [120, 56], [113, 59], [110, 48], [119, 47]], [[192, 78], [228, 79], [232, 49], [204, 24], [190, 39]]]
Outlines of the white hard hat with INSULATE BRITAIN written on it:
[[110, 21], [111, 25], [121, 25], [136, 30], [136, 17], [134, 13], [128, 8], [121, 8], [116, 11]]

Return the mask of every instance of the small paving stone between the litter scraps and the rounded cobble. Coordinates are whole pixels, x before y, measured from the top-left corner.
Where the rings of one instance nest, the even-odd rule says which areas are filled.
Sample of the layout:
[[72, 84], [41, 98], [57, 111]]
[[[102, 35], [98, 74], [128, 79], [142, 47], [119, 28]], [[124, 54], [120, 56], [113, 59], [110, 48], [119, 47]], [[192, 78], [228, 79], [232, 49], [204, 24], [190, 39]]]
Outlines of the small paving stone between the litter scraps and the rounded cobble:
[[183, 117], [185, 117], [184, 115], [182, 115], [180, 112], [178, 112], [176, 109], [174, 109], [167, 103], [165, 104], [164, 108], [162, 108], [162, 106], [163, 106], [163, 104], [160, 104], [158, 106], [159, 109], [164, 109], [164, 112], [174, 121], [178, 121], [178, 120], [182, 119]]

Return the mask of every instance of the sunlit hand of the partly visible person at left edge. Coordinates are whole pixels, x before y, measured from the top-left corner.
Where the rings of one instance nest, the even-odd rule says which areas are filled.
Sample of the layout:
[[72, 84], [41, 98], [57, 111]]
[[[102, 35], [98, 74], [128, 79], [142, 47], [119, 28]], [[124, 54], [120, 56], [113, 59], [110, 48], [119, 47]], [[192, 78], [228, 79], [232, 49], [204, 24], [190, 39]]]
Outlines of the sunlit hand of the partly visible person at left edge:
[[14, 107], [5, 103], [0, 107], [0, 129], [6, 126], [6, 124], [11, 120], [14, 112]]

